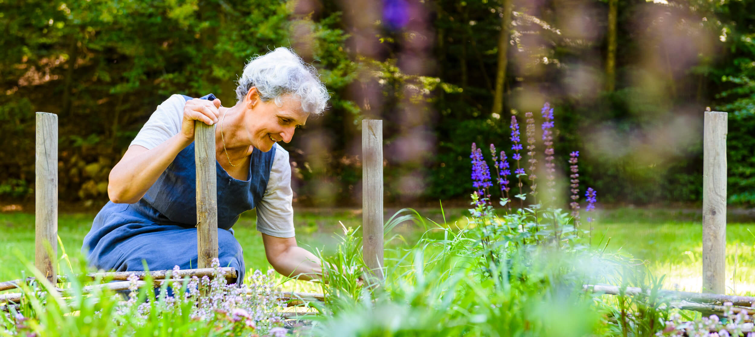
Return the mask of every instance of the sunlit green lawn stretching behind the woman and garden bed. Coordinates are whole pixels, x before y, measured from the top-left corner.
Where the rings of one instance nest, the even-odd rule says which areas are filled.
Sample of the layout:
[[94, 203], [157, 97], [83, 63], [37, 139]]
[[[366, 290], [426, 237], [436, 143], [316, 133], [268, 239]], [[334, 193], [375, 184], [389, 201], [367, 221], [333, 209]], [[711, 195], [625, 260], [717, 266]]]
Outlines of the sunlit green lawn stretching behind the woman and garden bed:
[[[386, 220], [394, 210], [387, 213]], [[421, 215], [442, 223], [439, 209], [424, 209]], [[464, 226], [464, 209], [446, 209], [448, 225]], [[63, 247], [72, 261], [80, 258], [82, 239], [88, 232], [94, 214], [77, 213], [59, 215], [58, 234]], [[593, 231], [593, 244], [605, 245], [606, 252], [626, 252], [633, 257], [647, 261], [649, 270], [660, 276], [665, 274], [665, 289], [700, 291], [701, 289], [701, 215], [692, 210], [669, 209], [614, 209], [604, 210], [596, 217]], [[270, 264], [264, 255], [260, 233], [254, 229], [254, 212], [242, 215], [234, 226], [236, 237], [244, 247], [247, 268], [266, 271]], [[294, 217], [297, 240], [300, 246], [308, 249], [328, 249], [336, 240], [335, 233], [342, 233], [341, 224], [358, 227], [362, 214], [358, 209], [305, 209]], [[394, 234], [399, 237], [392, 244], [402, 240], [412, 242], [423, 230], [415, 225], [405, 224], [396, 227]], [[755, 294], [755, 220], [729, 215], [726, 229], [727, 241], [727, 293], [732, 295]], [[24, 212], [0, 213], [0, 281], [12, 280], [28, 275], [25, 261], [33, 263], [34, 256], [34, 215]], [[62, 255], [63, 249], [58, 249]], [[288, 288], [302, 290], [307, 284], [289, 283]]]

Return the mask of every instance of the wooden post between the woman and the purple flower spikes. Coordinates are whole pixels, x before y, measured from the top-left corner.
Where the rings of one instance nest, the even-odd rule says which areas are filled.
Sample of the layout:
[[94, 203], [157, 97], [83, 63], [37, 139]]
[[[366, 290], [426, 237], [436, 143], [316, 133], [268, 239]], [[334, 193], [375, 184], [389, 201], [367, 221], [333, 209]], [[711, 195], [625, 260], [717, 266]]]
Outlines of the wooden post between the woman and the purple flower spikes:
[[362, 252], [383, 280], [383, 121], [362, 120]]

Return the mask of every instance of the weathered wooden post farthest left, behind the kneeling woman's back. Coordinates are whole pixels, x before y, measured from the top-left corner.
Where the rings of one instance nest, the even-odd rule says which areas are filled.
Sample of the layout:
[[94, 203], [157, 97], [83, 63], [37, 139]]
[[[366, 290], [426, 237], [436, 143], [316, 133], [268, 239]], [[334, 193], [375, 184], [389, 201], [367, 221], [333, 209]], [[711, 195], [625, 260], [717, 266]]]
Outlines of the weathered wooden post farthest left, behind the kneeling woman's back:
[[37, 113], [34, 265], [57, 282], [57, 115]]

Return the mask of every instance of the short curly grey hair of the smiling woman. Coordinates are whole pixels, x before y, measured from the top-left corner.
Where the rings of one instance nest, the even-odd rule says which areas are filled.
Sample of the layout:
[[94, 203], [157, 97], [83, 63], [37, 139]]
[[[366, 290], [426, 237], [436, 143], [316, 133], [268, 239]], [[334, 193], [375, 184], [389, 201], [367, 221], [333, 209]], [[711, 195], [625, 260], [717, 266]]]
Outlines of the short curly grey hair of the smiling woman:
[[242, 101], [251, 87], [257, 87], [260, 99], [274, 100], [282, 106], [282, 96], [292, 95], [307, 113], [322, 115], [330, 98], [314, 66], [304, 63], [288, 48], [276, 48], [262, 56], [252, 57], [244, 67], [236, 87], [236, 99]]

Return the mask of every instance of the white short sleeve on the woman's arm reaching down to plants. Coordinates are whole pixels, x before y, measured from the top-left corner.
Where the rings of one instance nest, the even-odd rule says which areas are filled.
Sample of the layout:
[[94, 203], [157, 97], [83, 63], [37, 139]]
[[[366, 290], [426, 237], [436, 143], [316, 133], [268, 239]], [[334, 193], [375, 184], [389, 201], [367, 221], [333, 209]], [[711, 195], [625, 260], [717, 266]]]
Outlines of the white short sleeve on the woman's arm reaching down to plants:
[[273, 237], [294, 237], [294, 208], [291, 201], [291, 164], [288, 152], [278, 144], [270, 179], [262, 199], [257, 202], [257, 230]]

